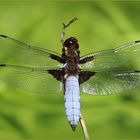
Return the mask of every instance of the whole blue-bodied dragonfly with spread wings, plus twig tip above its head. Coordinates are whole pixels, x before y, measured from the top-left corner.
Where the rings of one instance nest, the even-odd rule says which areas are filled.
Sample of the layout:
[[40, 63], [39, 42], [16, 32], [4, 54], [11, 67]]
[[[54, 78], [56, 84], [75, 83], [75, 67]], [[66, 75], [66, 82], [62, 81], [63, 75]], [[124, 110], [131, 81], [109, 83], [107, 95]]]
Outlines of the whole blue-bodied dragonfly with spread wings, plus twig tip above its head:
[[0, 35], [0, 80], [34, 93], [64, 93], [67, 120], [76, 129], [80, 93], [113, 95], [140, 86], [140, 40], [80, 56], [75, 37], [61, 33], [62, 54]]

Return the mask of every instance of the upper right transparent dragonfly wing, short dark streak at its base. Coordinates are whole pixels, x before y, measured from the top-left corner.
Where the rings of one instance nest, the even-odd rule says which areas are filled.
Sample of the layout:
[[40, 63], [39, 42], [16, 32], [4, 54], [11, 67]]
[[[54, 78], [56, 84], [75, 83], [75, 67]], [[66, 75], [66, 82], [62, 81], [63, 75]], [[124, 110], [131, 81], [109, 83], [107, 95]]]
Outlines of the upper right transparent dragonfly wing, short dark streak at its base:
[[115, 49], [85, 55], [80, 58], [80, 63], [83, 70], [132, 70], [140, 66], [139, 56], [140, 41], [135, 41]]

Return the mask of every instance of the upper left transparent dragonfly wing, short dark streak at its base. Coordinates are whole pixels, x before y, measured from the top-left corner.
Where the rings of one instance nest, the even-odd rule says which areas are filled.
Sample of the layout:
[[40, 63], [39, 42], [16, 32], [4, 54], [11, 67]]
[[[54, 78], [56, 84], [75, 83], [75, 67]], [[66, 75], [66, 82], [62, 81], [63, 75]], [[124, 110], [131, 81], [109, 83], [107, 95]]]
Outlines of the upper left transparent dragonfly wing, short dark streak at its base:
[[11, 63], [23, 66], [61, 67], [59, 54], [38, 47], [33, 47], [11, 37], [0, 35], [0, 63]]

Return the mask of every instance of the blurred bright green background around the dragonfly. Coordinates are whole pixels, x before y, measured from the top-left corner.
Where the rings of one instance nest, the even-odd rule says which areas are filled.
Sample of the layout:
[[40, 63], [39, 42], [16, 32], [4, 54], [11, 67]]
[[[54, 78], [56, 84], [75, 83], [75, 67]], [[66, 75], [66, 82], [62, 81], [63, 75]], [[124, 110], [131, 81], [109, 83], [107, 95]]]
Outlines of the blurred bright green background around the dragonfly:
[[[61, 53], [62, 23], [81, 55], [140, 39], [140, 2], [0, 1], [0, 34]], [[128, 94], [81, 94], [91, 139], [140, 139], [140, 88]], [[0, 139], [84, 139], [67, 122], [63, 94], [39, 95], [0, 84]]]

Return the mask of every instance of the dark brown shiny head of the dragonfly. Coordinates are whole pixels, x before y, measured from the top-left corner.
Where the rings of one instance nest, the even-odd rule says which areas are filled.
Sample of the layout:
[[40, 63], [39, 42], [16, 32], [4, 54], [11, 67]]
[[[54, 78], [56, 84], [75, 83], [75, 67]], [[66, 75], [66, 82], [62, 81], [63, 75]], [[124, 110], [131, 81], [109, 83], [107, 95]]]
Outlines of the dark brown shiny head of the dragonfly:
[[70, 38], [66, 39], [64, 42], [64, 46], [66, 48], [74, 48], [76, 50], [78, 50], [78, 48], [79, 48], [78, 41], [74, 37], [70, 37]]

